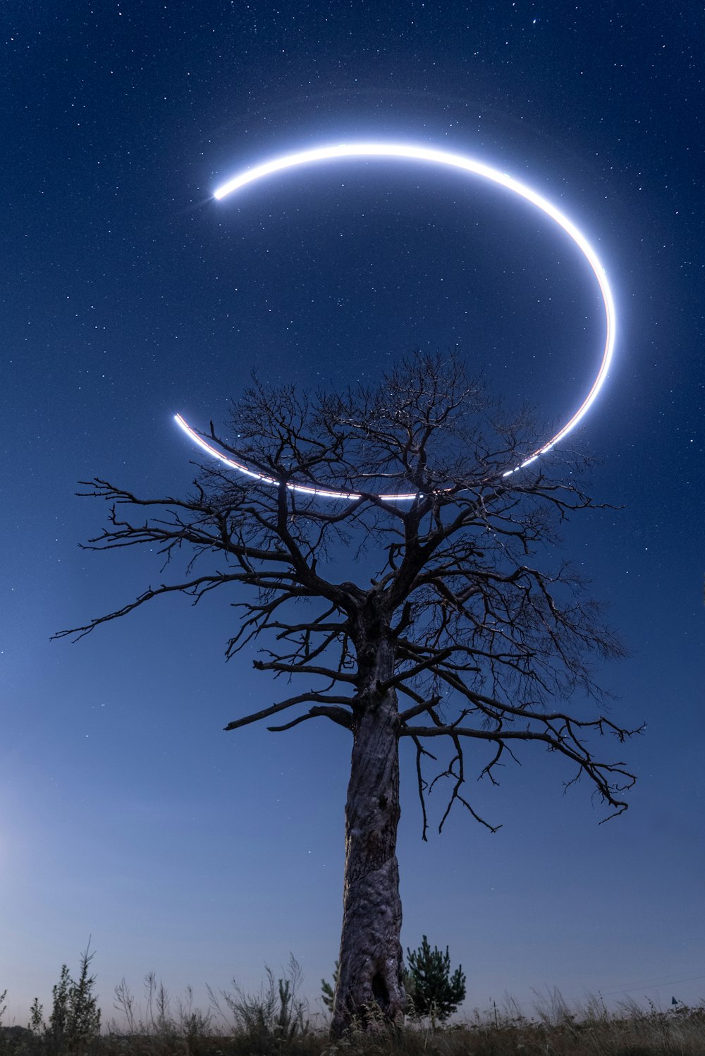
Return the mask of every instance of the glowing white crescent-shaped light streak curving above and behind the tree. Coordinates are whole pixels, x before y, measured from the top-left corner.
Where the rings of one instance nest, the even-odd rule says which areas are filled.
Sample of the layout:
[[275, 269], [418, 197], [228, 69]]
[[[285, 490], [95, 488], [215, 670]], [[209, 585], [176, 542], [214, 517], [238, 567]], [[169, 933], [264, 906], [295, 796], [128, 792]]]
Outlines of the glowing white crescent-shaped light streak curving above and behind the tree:
[[[283, 169], [292, 169], [304, 165], [310, 165], [317, 162], [329, 162], [336, 158], [346, 158], [346, 157], [394, 157], [403, 158], [408, 161], [417, 162], [428, 162], [432, 165], [442, 165], [449, 168], [462, 169], [465, 172], [470, 172], [473, 175], [481, 176], [484, 180], [489, 180], [491, 183], [498, 184], [500, 187], [504, 187], [507, 190], [512, 191], [519, 197], [525, 199], [531, 205], [535, 206], [541, 212], [550, 216], [566, 234], [569, 235], [582, 251], [583, 256], [590, 265], [592, 272], [597, 281], [599, 291], [603, 298], [603, 304], [605, 308], [605, 346], [603, 350], [602, 362], [599, 364], [599, 370], [597, 375], [592, 382], [590, 391], [587, 396], [574, 412], [571, 418], [558, 430], [558, 432], [546, 441], [540, 448], [537, 448], [528, 458], [516, 466], [514, 469], [507, 470], [502, 476], [510, 476], [512, 473], [518, 472], [518, 470], [523, 469], [525, 466], [529, 466], [531, 463], [535, 461], [540, 455], [546, 454], [551, 448], [568, 435], [578, 422], [585, 417], [587, 412], [590, 410], [597, 394], [602, 389], [607, 374], [612, 361], [612, 355], [614, 352], [614, 338], [615, 338], [615, 309], [614, 309], [614, 298], [612, 297], [612, 291], [610, 289], [609, 283], [607, 281], [607, 276], [605, 274], [605, 268], [603, 267], [597, 253], [595, 252], [593, 246], [588, 241], [588, 239], [583, 234], [580, 230], [573, 224], [572, 221], [566, 216], [559, 209], [557, 209], [548, 199], [545, 199], [533, 188], [528, 187], [526, 184], [519, 183], [513, 176], [508, 175], [506, 172], [500, 172], [499, 169], [494, 169], [483, 162], [478, 162], [476, 158], [466, 157], [464, 154], [453, 154], [444, 150], [436, 150], [432, 147], [420, 147], [414, 144], [397, 144], [397, 143], [352, 143], [352, 144], [336, 144], [325, 147], [316, 147], [311, 150], [302, 150], [294, 154], [285, 154], [282, 157], [275, 157], [270, 162], [265, 162], [263, 165], [258, 165], [252, 169], [246, 169], [244, 172], [239, 173], [233, 176], [232, 180], [228, 180], [227, 183], [222, 184], [214, 192], [214, 197], [218, 201], [226, 197], [228, 194], [232, 194], [234, 191], [240, 190], [242, 187], [247, 186], [247, 184], [255, 183], [258, 180], [262, 180], [264, 176], [272, 175], [275, 172], [281, 172]], [[255, 479], [262, 480], [265, 484], [275, 484], [277, 482], [263, 473], [255, 472], [248, 469], [245, 465], [235, 461], [234, 459], [226, 457], [222, 452], [217, 451], [214, 447], [207, 444], [203, 437], [191, 429], [191, 427], [186, 422], [186, 420], [180, 415], [175, 415], [175, 420], [177, 425], [191, 437], [191, 439], [197, 444], [201, 448], [207, 451], [213, 457], [230, 466], [232, 469], [237, 470], [240, 473], [244, 473], [247, 476], [254, 477]], [[360, 495], [357, 492], [345, 492], [336, 491], [327, 488], [315, 488], [302, 484], [290, 483], [287, 485], [292, 491], [300, 491], [305, 494], [320, 495], [326, 498], [337, 498], [337, 499], [356, 499]], [[406, 502], [416, 498], [416, 492], [411, 494], [381, 494], [378, 495], [379, 498], [387, 499], [390, 502]]]

